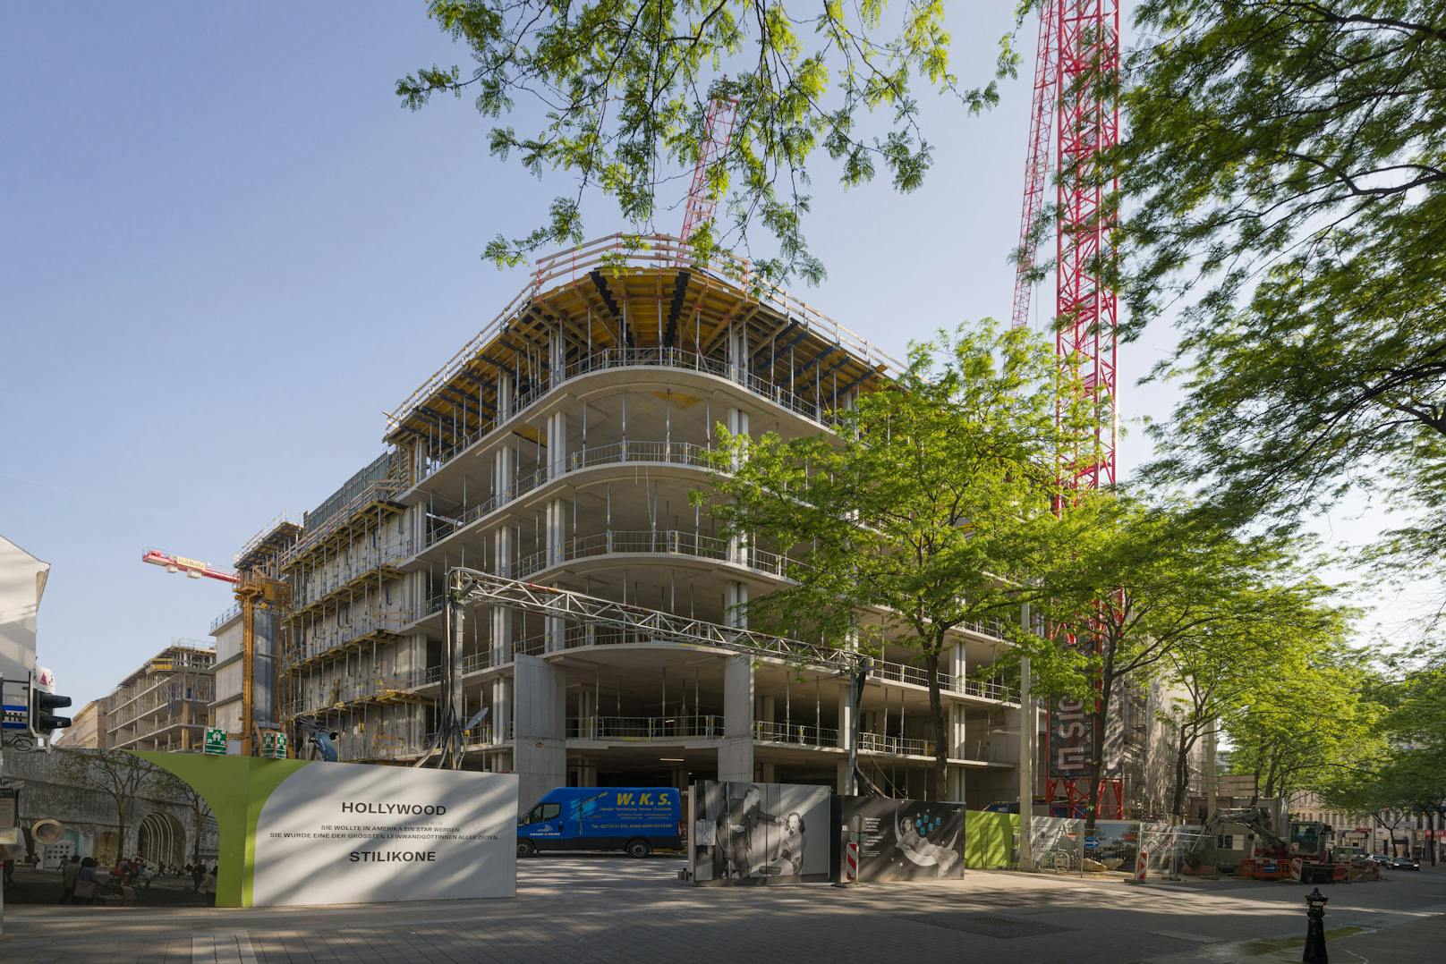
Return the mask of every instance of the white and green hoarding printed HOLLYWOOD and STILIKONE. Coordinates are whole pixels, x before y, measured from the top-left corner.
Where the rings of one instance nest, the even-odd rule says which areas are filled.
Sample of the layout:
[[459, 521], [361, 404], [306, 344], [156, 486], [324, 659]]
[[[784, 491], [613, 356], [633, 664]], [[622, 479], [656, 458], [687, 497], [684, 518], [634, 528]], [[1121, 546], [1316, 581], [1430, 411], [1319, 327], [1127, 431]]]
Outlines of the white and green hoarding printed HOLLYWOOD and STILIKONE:
[[139, 753], [205, 795], [217, 906], [516, 893], [518, 778], [362, 763]]

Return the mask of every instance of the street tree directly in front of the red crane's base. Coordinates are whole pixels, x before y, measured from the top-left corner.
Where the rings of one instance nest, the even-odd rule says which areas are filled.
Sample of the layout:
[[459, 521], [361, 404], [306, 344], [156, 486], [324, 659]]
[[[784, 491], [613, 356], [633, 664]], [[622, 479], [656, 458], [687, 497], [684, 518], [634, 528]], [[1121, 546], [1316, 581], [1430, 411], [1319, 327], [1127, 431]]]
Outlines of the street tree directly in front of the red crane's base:
[[[1045, 676], [1051, 691], [1095, 687], [1086, 825], [1099, 814], [1106, 776], [1106, 723], [1126, 687], [1142, 687], [1177, 647], [1212, 645], [1212, 633], [1268, 619], [1259, 587], [1288, 564], [1278, 545], [1242, 539], [1193, 520], [1181, 507], [1151, 506], [1118, 493], [1082, 493], [1066, 509], [1080, 533], [1069, 555], [1044, 575], [1044, 611], [1054, 639], [1071, 636], [1083, 660], [1077, 679]], [[1043, 640], [1027, 642], [1034, 653]]]

